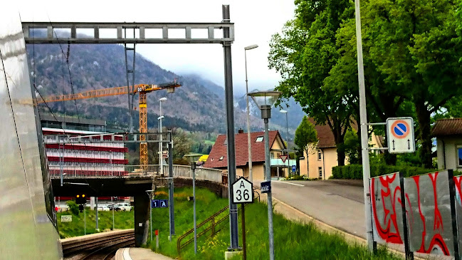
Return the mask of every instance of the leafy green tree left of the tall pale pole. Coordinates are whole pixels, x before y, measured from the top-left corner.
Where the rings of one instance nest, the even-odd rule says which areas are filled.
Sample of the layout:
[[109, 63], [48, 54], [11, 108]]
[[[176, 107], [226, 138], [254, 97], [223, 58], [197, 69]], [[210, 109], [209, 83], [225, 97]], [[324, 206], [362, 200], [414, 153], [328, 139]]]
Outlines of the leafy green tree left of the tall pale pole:
[[[295, 4], [295, 19], [271, 38], [269, 67], [283, 78], [276, 89], [284, 98], [293, 96], [316, 123], [329, 125], [335, 143], [341, 144], [350, 128], [352, 107], [324, 80], [340, 56], [335, 33], [351, 14], [352, 4], [348, 0], [297, 0]], [[338, 150], [337, 157], [342, 165], [345, 152]]]

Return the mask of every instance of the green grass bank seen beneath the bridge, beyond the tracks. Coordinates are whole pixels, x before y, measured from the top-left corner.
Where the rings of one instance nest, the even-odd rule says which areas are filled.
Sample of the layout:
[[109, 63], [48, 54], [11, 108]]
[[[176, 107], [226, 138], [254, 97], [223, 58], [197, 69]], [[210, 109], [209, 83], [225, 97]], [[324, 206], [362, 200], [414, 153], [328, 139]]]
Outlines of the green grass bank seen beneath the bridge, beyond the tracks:
[[[96, 232], [96, 214], [95, 210], [90, 210], [90, 207], [86, 207], [86, 234], [93, 234]], [[72, 222], [61, 223], [62, 215], [72, 215]], [[72, 237], [72, 236], [83, 236], [84, 231], [84, 219], [83, 212], [78, 215], [72, 214], [72, 212], [58, 212], [58, 232], [61, 238]], [[112, 211], [109, 212], [98, 212], [100, 232], [112, 229]], [[135, 213], [131, 212], [114, 212], [114, 226], [115, 229], [133, 229], [135, 223]]]

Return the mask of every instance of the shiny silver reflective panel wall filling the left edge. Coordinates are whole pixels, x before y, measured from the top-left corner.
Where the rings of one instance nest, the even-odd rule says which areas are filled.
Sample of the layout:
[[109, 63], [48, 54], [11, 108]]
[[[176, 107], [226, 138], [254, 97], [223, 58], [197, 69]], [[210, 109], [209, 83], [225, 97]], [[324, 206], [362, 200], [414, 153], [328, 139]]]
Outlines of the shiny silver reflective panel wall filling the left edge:
[[0, 258], [60, 259], [58, 232], [46, 211], [49, 179], [42, 175], [21, 21], [6, 9], [0, 15]]

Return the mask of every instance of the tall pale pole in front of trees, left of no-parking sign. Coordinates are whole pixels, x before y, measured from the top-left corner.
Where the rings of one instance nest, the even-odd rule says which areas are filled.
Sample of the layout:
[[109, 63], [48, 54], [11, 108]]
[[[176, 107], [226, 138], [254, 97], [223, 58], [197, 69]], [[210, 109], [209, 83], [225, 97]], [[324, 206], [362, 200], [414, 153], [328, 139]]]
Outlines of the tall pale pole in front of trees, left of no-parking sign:
[[371, 212], [371, 191], [369, 186], [370, 167], [369, 167], [369, 144], [367, 137], [367, 111], [366, 111], [366, 91], [364, 86], [364, 64], [362, 63], [362, 37], [361, 37], [361, 14], [359, 0], [355, 0], [356, 18], [356, 46], [358, 63], [358, 83], [359, 83], [359, 118], [361, 123], [361, 147], [362, 147], [362, 182], [364, 185], [364, 211], [366, 214], [366, 238], [369, 251], [374, 251], [374, 238], [372, 237], [372, 212]]

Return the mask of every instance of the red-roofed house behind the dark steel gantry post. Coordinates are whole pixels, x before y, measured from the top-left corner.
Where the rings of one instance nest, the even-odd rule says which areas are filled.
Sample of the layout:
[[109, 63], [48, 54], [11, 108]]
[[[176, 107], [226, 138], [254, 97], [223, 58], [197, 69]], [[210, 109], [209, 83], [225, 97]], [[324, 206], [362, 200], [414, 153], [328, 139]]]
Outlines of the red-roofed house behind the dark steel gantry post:
[[[265, 132], [251, 132], [252, 149], [252, 175], [253, 180], [264, 180], [263, 165], [265, 164]], [[235, 137], [236, 145], [236, 175], [248, 177], [248, 135], [243, 130], [239, 130]], [[288, 174], [288, 165], [295, 165], [295, 160], [280, 159], [280, 155], [287, 154], [283, 137], [279, 131], [269, 131], [270, 157], [271, 157], [271, 176], [283, 177]], [[228, 167], [227, 158], [227, 138], [226, 135], [219, 135], [214, 146], [211, 148], [209, 157], [204, 163], [204, 167], [226, 170]]]

